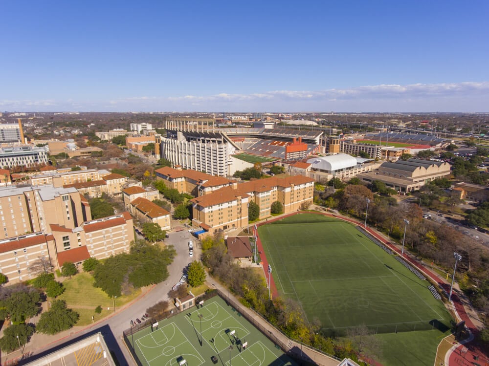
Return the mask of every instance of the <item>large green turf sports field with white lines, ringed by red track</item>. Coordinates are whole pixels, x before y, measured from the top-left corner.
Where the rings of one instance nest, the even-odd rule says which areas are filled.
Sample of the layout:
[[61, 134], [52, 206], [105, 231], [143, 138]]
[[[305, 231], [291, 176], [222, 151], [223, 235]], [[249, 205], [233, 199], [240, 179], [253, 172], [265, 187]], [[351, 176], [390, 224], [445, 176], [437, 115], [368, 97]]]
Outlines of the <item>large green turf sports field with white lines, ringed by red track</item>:
[[258, 233], [279, 293], [298, 300], [308, 321], [319, 319], [325, 335], [343, 335], [362, 323], [378, 333], [450, 326], [429, 283], [352, 224], [299, 214], [262, 225]]

